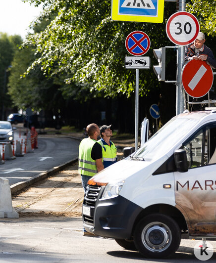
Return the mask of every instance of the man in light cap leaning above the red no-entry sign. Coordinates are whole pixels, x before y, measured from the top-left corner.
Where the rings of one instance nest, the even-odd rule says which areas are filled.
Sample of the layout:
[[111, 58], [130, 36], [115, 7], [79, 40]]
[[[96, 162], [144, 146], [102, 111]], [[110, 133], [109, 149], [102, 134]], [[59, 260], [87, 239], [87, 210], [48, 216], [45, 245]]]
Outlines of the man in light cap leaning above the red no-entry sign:
[[206, 61], [213, 69], [216, 68], [216, 59], [212, 50], [206, 46], [205, 35], [200, 32], [193, 44], [185, 47], [185, 61], [196, 59]]

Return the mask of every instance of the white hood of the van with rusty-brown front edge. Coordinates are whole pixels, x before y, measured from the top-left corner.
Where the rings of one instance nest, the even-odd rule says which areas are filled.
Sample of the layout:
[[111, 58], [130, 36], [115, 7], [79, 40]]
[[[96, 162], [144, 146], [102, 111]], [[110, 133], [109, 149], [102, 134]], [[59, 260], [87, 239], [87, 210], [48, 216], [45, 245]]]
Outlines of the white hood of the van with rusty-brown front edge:
[[121, 160], [108, 168], [104, 169], [89, 180], [89, 184], [107, 185], [110, 182], [126, 179], [127, 177], [138, 173], [140, 170], [152, 164], [148, 161]]

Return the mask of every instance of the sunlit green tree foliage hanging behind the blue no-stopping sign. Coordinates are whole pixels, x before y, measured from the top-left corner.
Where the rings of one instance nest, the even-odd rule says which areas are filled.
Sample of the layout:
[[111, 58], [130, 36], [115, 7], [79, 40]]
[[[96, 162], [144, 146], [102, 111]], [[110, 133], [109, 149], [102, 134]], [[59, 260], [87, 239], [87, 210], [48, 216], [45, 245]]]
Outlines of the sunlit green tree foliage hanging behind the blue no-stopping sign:
[[[41, 66], [45, 75], [58, 76], [64, 96], [85, 91], [107, 96], [130, 96], [135, 88], [135, 72], [124, 68], [127, 35], [135, 30], [148, 32], [153, 48], [169, 44], [165, 24], [116, 22], [110, 18], [110, 0], [31, 0], [45, 2], [44, 19], [54, 19], [40, 33], [29, 35], [26, 46], [35, 46], [36, 59], [27, 73]], [[166, 4], [165, 19], [175, 10]], [[152, 49], [148, 55], [153, 58]], [[157, 63], [157, 62], [156, 62]], [[159, 87], [153, 71], [140, 74], [140, 94]], [[78, 87], [78, 88], [77, 88]], [[78, 91], [78, 92], [77, 92]]]

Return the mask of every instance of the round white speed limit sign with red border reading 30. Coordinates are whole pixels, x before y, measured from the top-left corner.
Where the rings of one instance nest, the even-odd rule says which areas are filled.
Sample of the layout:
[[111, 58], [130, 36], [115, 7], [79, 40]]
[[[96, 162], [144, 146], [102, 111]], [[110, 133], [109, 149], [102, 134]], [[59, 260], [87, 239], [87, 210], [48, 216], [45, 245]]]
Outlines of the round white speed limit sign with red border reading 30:
[[169, 40], [178, 45], [193, 43], [200, 32], [197, 18], [188, 12], [176, 12], [166, 23], [166, 34]]

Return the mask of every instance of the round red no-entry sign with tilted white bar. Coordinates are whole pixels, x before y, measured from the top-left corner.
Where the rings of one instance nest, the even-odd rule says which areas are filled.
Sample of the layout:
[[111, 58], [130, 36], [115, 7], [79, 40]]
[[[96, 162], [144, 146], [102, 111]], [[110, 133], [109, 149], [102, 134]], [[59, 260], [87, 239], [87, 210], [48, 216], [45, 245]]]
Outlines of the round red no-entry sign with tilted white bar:
[[212, 88], [213, 71], [205, 61], [192, 59], [184, 65], [181, 79], [185, 92], [200, 98]]

